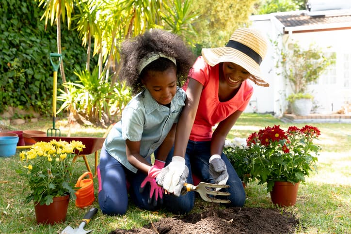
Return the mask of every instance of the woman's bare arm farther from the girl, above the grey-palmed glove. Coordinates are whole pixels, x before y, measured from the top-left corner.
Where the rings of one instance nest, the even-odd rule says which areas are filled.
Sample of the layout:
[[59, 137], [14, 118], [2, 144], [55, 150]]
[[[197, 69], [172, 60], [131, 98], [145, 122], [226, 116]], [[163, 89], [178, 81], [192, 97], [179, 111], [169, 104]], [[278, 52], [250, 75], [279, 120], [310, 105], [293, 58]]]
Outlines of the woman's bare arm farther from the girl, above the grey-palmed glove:
[[211, 155], [222, 155], [225, 138], [227, 137], [230, 129], [237, 122], [241, 113], [242, 111], [237, 110], [218, 124], [216, 130], [212, 134]]

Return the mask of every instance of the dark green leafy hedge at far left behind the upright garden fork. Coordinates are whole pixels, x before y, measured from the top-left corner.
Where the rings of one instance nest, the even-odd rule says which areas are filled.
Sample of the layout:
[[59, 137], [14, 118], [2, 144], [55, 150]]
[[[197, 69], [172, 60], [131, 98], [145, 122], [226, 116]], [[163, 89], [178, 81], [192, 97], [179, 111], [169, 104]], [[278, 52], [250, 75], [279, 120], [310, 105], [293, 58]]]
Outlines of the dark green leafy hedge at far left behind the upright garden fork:
[[[45, 29], [40, 20], [43, 11], [34, 0], [0, 1], [0, 112], [8, 107], [33, 107], [42, 115], [51, 114], [53, 67], [49, 54], [57, 51], [56, 27]], [[78, 32], [68, 31], [65, 24], [62, 47], [67, 81], [75, 81], [73, 71], [85, 66], [86, 52]], [[92, 66], [95, 64], [96, 60], [92, 61]]]

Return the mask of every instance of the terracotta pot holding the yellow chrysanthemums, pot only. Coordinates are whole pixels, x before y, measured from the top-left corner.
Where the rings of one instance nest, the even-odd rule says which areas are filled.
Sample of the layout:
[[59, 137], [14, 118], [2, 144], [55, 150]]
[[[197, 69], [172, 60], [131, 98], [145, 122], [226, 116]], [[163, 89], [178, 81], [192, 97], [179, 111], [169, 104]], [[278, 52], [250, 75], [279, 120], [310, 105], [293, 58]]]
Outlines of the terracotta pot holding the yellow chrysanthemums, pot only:
[[53, 198], [49, 205], [34, 203], [35, 217], [38, 224], [63, 223], [66, 220], [69, 194]]

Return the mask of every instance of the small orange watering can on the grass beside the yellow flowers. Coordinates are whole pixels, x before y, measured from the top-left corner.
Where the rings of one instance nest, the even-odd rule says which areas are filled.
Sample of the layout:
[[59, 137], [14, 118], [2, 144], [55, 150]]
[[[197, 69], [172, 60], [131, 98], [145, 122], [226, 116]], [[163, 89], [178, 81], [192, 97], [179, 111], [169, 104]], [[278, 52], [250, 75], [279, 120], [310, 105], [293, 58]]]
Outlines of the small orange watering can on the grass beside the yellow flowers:
[[[89, 179], [83, 179], [87, 175], [89, 175]], [[95, 201], [93, 174], [84, 172], [77, 180], [76, 187], [80, 187], [75, 193], [77, 196], [76, 206], [84, 208], [93, 204]]]

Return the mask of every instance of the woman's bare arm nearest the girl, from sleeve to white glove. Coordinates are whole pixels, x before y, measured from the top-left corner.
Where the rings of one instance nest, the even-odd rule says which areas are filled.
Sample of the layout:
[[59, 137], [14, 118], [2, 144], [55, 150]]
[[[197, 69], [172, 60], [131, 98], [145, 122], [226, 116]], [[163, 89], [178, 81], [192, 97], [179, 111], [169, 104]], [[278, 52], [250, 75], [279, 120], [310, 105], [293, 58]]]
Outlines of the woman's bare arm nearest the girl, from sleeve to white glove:
[[176, 140], [174, 149], [175, 156], [185, 156], [191, 128], [194, 124], [197, 108], [199, 106], [202, 89], [203, 86], [200, 82], [194, 80], [193, 78], [189, 78], [189, 84], [186, 91], [187, 99], [185, 101], [185, 107], [182, 110], [176, 127]]

